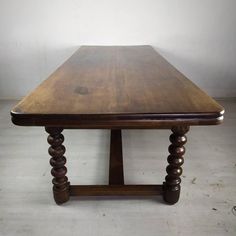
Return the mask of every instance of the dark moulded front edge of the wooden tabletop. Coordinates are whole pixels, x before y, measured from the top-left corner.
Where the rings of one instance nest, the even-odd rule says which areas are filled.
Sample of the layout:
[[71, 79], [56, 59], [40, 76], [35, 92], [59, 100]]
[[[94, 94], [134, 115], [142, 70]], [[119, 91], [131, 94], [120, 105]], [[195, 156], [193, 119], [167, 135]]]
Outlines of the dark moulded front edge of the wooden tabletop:
[[224, 109], [215, 113], [187, 114], [22, 114], [11, 111], [19, 126], [53, 126], [80, 129], [155, 129], [176, 125], [218, 125]]

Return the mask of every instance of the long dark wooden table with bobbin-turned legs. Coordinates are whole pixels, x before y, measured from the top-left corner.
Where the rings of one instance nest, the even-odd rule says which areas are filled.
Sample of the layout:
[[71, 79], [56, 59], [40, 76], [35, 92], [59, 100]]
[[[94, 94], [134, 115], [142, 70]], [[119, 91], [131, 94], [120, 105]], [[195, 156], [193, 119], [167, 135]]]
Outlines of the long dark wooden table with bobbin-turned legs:
[[[185, 134], [191, 125], [220, 124], [223, 113], [150, 46], [83, 46], [11, 111], [14, 124], [49, 133], [57, 204], [70, 196], [159, 194], [176, 203]], [[109, 185], [68, 182], [63, 129], [111, 130]], [[163, 185], [124, 184], [122, 129], [171, 129]]]

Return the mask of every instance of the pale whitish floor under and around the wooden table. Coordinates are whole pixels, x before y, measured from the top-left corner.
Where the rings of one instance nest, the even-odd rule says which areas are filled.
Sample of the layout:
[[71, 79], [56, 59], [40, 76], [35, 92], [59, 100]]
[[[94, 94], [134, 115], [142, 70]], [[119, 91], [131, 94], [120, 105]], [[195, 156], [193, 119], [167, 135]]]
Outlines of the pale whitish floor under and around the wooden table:
[[[46, 133], [17, 127], [0, 102], [0, 235], [236, 235], [236, 102], [222, 101], [225, 122], [188, 134], [179, 203], [153, 198], [52, 198]], [[168, 130], [124, 130], [126, 183], [162, 183]], [[72, 184], [106, 184], [109, 131], [65, 130]]]

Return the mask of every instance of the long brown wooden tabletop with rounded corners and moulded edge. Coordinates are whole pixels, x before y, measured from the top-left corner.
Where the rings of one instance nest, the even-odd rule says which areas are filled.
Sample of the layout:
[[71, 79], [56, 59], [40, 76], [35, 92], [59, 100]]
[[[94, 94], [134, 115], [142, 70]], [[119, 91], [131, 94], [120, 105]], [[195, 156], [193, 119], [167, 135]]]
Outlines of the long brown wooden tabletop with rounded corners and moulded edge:
[[17, 125], [82, 128], [211, 125], [223, 113], [151, 46], [82, 46], [11, 111]]

